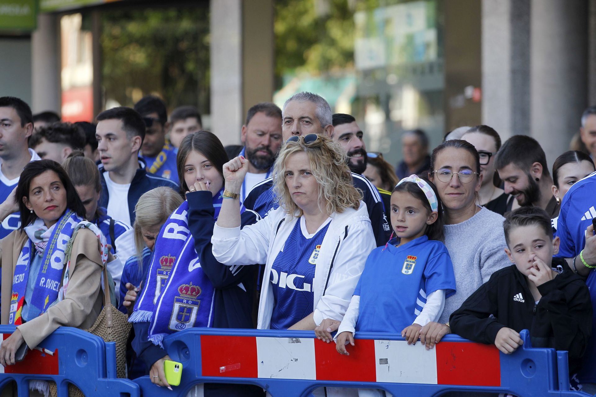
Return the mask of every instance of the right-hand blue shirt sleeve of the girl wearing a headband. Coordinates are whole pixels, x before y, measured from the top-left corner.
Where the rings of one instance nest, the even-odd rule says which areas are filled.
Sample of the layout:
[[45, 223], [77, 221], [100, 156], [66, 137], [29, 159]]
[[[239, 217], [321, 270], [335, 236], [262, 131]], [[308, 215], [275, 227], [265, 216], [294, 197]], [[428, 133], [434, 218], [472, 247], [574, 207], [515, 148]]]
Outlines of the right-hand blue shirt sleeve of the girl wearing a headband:
[[443, 243], [433, 249], [424, 266], [424, 290], [426, 295], [439, 289], [445, 290], [445, 298], [455, 293], [455, 274], [449, 252]]

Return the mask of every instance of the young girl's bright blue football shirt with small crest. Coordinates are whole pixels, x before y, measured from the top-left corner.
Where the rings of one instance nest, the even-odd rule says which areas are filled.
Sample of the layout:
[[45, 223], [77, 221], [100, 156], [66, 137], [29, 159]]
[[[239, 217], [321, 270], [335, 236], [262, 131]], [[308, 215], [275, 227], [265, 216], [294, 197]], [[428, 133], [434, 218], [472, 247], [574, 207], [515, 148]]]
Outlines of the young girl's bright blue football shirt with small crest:
[[399, 333], [420, 315], [430, 293], [455, 293], [453, 264], [445, 245], [422, 236], [396, 247], [377, 247], [368, 255], [354, 290], [360, 296], [356, 331]]

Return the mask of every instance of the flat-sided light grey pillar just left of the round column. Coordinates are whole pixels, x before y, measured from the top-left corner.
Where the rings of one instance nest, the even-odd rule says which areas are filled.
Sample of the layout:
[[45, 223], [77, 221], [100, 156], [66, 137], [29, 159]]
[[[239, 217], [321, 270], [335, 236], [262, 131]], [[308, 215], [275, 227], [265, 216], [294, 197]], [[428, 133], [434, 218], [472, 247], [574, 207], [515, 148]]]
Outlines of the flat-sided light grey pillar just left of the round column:
[[530, 0], [482, 1], [482, 123], [530, 130]]

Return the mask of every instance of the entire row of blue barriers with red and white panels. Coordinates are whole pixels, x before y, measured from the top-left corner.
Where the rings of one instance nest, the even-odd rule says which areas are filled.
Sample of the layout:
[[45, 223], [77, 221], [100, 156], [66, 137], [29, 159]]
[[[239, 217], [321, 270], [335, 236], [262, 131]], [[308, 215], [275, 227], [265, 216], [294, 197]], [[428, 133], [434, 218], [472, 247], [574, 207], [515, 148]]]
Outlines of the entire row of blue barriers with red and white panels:
[[[0, 326], [0, 333], [14, 332]], [[116, 378], [114, 343], [61, 327], [17, 365], [4, 368], [0, 388], [14, 380], [26, 396], [29, 380], [53, 380], [58, 395], [73, 383], [87, 397], [185, 396], [200, 383], [258, 385], [274, 397], [312, 396], [316, 387], [383, 389], [394, 396], [439, 396], [446, 392], [497, 392], [520, 397], [588, 396], [569, 390], [567, 352], [524, 345], [505, 355], [494, 346], [448, 335], [431, 351], [407, 345], [396, 334], [361, 333], [349, 356], [312, 332], [188, 329], [164, 339], [172, 360], [183, 364], [173, 391], [148, 376], [134, 382]], [[0, 367], [1, 368], [1, 367]], [[140, 389], [140, 390], [139, 390]]]

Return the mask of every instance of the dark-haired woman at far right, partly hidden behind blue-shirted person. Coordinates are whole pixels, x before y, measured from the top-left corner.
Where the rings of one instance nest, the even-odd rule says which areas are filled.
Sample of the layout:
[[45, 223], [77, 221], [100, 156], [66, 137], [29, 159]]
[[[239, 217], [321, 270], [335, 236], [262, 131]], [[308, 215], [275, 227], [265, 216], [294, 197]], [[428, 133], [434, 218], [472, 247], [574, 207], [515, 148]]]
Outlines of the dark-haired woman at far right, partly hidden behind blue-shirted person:
[[[570, 150], [564, 152], [552, 164], [552, 195], [557, 201], [555, 208], [549, 213], [552, 217], [552, 230], [557, 232], [558, 215], [561, 201], [569, 188], [594, 172], [594, 161], [584, 152]], [[548, 212], [548, 211], [547, 211]]]

